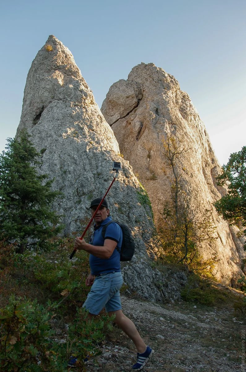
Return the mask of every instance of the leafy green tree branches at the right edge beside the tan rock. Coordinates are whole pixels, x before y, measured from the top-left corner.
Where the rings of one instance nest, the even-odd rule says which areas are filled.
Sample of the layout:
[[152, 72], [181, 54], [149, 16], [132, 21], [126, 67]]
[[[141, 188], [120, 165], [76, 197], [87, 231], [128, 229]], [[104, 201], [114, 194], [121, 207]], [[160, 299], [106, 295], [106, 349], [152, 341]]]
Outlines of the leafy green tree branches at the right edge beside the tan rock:
[[214, 206], [224, 219], [244, 227], [246, 235], [246, 146], [231, 154], [228, 163], [223, 165], [218, 185], [224, 184], [228, 186], [228, 193]]

